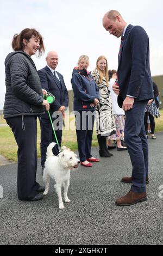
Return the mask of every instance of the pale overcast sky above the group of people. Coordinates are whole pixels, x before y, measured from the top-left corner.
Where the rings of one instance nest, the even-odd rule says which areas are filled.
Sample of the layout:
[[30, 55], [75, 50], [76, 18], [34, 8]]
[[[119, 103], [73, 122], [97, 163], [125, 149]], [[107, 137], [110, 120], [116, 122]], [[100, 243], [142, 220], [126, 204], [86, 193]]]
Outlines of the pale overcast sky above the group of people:
[[[0, 109], [5, 95], [4, 59], [12, 51], [12, 36], [29, 27], [44, 38], [46, 52], [32, 57], [37, 70], [46, 65], [46, 53], [59, 54], [59, 71], [71, 89], [71, 74], [78, 57], [90, 58], [89, 70], [100, 55], [108, 59], [109, 69], [117, 69], [120, 38], [110, 35], [102, 26], [106, 11], [120, 11], [126, 22], [145, 28], [149, 36], [152, 76], [163, 74], [162, 0], [0, 0]], [[141, 42], [137, 42], [140, 44]]]

